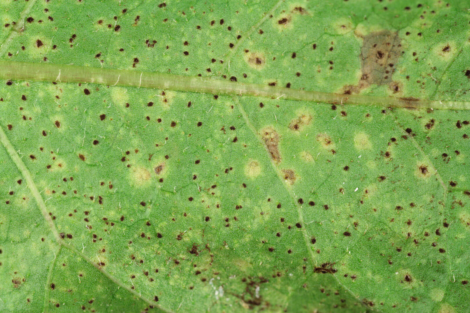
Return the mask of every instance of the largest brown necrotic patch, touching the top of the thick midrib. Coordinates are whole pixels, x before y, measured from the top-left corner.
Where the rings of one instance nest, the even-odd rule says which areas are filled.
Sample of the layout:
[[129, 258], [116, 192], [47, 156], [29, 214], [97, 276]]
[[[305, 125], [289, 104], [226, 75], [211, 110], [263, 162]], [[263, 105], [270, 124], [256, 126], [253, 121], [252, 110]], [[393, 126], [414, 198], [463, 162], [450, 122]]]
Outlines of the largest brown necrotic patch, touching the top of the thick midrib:
[[346, 85], [343, 93], [359, 93], [370, 85], [389, 85], [393, 93], [401, 91], [401, 85], [392, 81], [395, 64], [401, 54], [401, 38], [398, 32], [374, 31], [364, 37], [360, 53], [362, 75], [356, 85]]

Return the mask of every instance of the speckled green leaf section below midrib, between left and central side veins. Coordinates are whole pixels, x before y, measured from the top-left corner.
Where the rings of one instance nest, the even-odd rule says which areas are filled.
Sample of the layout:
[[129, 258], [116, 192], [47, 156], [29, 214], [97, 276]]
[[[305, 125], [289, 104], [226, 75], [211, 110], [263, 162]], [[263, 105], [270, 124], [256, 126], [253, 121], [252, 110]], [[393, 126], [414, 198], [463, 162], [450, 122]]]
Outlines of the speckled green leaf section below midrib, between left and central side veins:
[[[46, 86], [52, 87], [44, 96], [59, 92], [67, 105], [35, 110], [26, 103], [29, 92]], [[85, 87], [93, 91], [88, 99], [100, 101], [76, 103], [73, 91]], [[5, 118], [12, 144], [20, 155], [27, 153], [24, 162], [67, 243], [170, 310], [196, 309], [201, 299], [220, 310], [241, 304], [284, 308], [289, 296], [281, 300], [279, 293], [286, 284], [296, 295], [336, 291], [328, 310], [347, 305], [340, 300], [350, 297], [332, 277], [314, 272], [311, 247], [295, 226], [295, 201], [232, 99], [93, 87], [31, 84], [24, 107]], [[156, 102], [131, 101], [137, 94]], [[26, 120], [21, 115], [13, 122], [18, 112]], [[7, 212], [33, 200], [12, 172], [14, 179], [4, 183], [14, 191], [7, 193]], [[50, 236], [41, 239], [48, 236], [37, 236], [39, 246], [51, 244]], [[284, 258], [288, 267], [280, 263]], [[50, 305], [67, 305], [57, 270]], [[72, 277], [79, 275], [76, 270]], [[74, 293], [81, 300], [76, 305], [84, 305], [85, 296], [93, 299], [92, 290]], [[42, 295], [38, 300], [42, 305]]]

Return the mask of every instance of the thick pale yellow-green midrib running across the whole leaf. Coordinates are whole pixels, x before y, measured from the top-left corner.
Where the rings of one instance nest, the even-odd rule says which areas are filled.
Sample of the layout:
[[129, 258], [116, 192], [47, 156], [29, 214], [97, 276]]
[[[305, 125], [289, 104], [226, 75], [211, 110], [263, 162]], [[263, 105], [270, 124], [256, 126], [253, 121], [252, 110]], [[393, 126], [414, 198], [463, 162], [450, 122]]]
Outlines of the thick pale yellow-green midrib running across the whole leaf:
[[131, 69], [104, 69], [69, 64], [0, 61], [0, 79], [55, 83], [93, 83], [182, 92], [268, 97], [271, 99], [311, 101], [338, 105], [470, 110], [470, 101], [316, 92], [280, 86], [227, 81], [211, 77], [184, 76]]

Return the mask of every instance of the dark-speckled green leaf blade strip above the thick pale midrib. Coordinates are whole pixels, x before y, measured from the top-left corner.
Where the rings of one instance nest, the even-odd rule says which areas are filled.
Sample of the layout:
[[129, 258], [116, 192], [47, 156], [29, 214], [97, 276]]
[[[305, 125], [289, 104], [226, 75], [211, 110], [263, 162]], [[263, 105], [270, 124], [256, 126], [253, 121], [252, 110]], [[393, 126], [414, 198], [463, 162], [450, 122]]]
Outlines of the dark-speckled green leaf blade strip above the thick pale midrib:
[[11, 61], [469, 101], [465, 1], [39, 1], [22, 32], [12, 2]]

